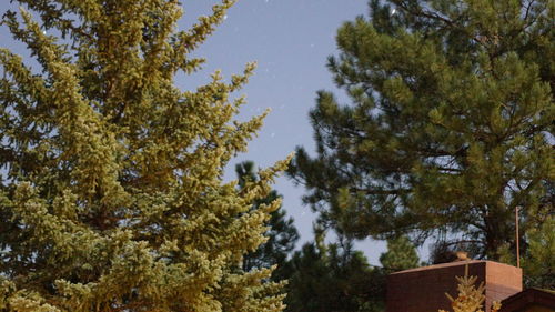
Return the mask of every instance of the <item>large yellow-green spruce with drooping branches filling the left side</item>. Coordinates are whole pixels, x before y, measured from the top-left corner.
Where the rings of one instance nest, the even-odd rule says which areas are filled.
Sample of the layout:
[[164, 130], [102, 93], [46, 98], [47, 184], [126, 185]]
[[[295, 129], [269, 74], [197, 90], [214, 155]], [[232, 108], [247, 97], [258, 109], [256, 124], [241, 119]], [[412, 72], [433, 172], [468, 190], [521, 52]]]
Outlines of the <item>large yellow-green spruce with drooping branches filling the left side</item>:
[[40, 68], [0, 49], [0, 311], [281, 311], [240, 263], [285, 162], [221, 181], [262, 124], [233, 121], [254, 66], [174, 84], [233, 1], [186, 31], [174, 0], [16, 2], [2, 23]]

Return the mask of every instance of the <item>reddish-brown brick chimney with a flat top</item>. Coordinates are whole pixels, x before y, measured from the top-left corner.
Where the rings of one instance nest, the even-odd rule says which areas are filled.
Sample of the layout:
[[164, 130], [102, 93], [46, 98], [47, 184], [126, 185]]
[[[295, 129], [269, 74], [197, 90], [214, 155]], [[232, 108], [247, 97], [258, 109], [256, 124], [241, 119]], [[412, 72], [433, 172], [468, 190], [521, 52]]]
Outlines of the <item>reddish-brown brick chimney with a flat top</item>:
[[522, 291], [522, 269], [482, 260], [442, 263], [389, 275], [386, 312], [452, 311], [445, 293], [457, 295], [455, 276], [464, 275], [466, 264], [468, 275], [478, 278], [476, 286], [484, 282], [486, 312], [490, 312], [493, 301], [502, 301]]

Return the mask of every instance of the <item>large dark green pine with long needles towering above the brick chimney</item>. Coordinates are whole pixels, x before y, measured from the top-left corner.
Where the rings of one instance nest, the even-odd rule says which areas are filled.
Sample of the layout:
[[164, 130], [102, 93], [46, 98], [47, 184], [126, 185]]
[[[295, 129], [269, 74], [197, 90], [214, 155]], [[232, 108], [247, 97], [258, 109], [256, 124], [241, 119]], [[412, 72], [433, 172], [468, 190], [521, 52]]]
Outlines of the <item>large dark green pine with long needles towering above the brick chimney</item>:
[[290, 169], [322, 222], [460, 238], [496, 260], [521, 207], [526, 245], [553, 212], [554, 14], [548, 0], [373, 0], [344, 23], [329, 68], [352, 103], [319, 92], [317, 155], [301, 148]]

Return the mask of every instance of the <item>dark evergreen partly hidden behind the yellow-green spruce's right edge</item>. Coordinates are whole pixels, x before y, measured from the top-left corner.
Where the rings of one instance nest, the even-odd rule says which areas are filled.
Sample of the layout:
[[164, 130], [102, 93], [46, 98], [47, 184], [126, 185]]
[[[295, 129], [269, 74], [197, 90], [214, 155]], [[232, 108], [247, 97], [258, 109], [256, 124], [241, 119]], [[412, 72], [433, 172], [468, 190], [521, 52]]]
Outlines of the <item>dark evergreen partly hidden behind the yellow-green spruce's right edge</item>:
[[[235, 165], [239, 178], [239, 187], [242, 189], [249, 182], [256, 182], [259, 179], [254, 173], [254, 162], [244, 161]], [[281, 198], [275, 190], [268, 197], [255, 200], [251, 210], [258, 210], [262, 204], [270, 204]], [[272, 273], [272, 280], [281, 281], [286, 279], [284, 273], [287, 266], [287, 255], [295, 248], [299, 240], [299, 232], [293, 225], [293, 218], [285, 219], [285, 211], [281, 207], [271, 213], [268, 222], [268, 231], [264, 233], [268, 241], [261, 244], [254, 252], [249, 253], [243, 259], [243, 270], [249, 272], [252, 269], [271, 268], [278, 265]]]

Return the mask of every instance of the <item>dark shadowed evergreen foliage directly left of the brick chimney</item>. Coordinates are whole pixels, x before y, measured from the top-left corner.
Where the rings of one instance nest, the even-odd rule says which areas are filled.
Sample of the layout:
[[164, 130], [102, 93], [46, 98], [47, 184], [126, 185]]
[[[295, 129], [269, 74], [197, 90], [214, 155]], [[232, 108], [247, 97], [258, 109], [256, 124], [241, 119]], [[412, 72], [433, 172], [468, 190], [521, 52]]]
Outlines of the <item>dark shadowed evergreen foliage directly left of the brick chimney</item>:
[[317, 248], [305, 244], [291, 260], [285, 311], [383, 311], [385, 274], [370, 268], [351, 242]]

